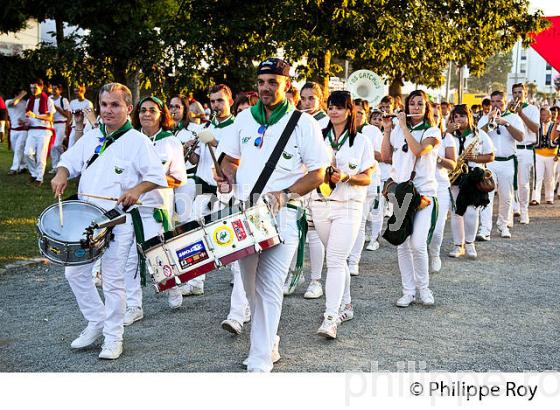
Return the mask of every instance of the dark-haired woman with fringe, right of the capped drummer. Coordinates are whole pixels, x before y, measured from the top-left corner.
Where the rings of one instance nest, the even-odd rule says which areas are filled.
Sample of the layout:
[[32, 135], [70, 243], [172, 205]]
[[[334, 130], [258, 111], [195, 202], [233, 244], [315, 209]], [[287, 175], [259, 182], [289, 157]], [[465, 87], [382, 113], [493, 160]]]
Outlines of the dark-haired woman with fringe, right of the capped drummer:
[[354, 317], [347, 260], [358, 236], [367, 186], [377, 163], [371, 143], [356, 131], [350, 93], [334, 91], [327, 107], [330, 121], [323, 135], [332, 166], [325, 175], [325, 189], [312, 193], [310, 208], [327, 251], [325, 314], [317, 333], [335, 339], [338, 324]]

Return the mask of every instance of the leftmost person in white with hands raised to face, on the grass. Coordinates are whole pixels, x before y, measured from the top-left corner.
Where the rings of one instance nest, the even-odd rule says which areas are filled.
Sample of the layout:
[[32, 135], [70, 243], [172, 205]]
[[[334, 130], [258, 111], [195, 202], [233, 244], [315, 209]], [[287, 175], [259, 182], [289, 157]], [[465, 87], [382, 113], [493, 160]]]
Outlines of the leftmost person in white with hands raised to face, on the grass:
[[20, 90], [14, 98], [6, 101], [6, 107], [10, 116], [10, 145], [14, 152], [12, 166], [8, 175], [17, 175], [25, 169], [23, 150], [27, 140], [27, 123], [25, 118], [27, 102], [23, 98], [26, 94], [27, 91]]

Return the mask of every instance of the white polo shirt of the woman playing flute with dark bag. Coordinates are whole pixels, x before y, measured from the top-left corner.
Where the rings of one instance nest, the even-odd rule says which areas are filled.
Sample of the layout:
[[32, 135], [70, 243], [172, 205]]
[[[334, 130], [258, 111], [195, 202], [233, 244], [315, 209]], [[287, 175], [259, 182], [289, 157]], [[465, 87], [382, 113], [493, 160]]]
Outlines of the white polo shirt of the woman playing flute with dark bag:
[[[412, 136], [418, 142], [426, 138], [435, 138], [441, 143], [441, 131], [437, 127], [430, 127], [425, 130], [412, 130]], [[403, 151], [406, 139], [400, 124], [397, 124], [391, 131], [391, 146], [393, 147], [393, 164], [391, 167], [391, 178], [397, 183], [406, 182], [410, 179], [413, 170], [416, 171], [414, 186], [421, 195], [435, 196], [437, 193], [436, 164], [437, 164], [437, 145], [427, 154], [416, 159], [410, 147]], [[414, 165], [416, 161], [416, 166]]]

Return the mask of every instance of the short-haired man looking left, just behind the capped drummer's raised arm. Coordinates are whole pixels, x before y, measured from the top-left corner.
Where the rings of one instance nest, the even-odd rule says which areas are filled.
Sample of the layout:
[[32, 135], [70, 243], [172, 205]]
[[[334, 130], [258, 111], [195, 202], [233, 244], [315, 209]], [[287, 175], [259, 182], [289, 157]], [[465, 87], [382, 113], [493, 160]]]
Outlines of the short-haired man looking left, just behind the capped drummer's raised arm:
[[[210, 106], [215, 116], [207, 123], [204, 129], [212, 131], [215, 140], [211, 144], [216, 147], [221, 139], [225, 135], [228, 135], [230, 132], [229, 127], [231, 127], [234, 122], [235, 117], [231, 114], [233, 98], [230, 88], [225, 84], [218, 84], [211, 87], [209, 90], [209, 98]], [[187, 143], [187, 146], [193, 143], [194, 140]], [[218, 153], [216, 157], [219, 157]], [[216, 182], [214, 181], [213, 175], [214, 162], [209, 147], [205, 144], [199, 144], [198, 148], [188, 160], [197, 165], [193, 177], [197, 184], [197, 195], [194, 198], [193, 209], [190, 216], [190, 219], [194, 220], [210, 213], [211, 207], [216, 199]], [[182, 286], [183, 296], [203, 295], [205, 278], [206, 275], [198, 276], [190, 280], [185, 286]]]

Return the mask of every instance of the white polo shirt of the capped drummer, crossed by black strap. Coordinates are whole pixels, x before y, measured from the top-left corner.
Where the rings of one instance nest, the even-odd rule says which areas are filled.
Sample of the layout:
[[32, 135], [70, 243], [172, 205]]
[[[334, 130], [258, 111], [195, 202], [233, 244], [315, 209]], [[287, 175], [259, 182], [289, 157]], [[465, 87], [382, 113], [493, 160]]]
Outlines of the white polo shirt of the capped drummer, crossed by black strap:
[[[227, 127], [228, 134], [220, 141], [219, 149], [241, 160], [234, 187], [239, 200], [249, 198], [292, 112], [287, 112], [276, 124], [268, 127], [260, 148], [255, 146], [255, 139], [261, 125], [255, 121], [250, 109], [240, 112], [233, 125]], [[262, 193], [289, 188], [308, 172], [328, 165], [330, 157], [319, 124], [311, 115], [302, 113]]]

